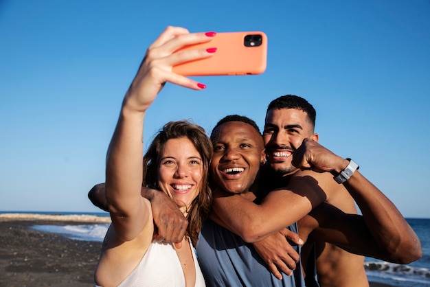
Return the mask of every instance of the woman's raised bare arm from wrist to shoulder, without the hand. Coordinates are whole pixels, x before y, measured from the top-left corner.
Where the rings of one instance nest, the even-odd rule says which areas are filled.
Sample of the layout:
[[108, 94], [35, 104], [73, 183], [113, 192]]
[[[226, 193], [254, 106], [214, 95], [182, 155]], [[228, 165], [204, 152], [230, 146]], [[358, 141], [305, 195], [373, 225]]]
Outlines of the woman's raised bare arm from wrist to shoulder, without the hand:
[[106, 201], [117, 236], [135, 238], [150, 220], [150, 204], [142, 198], [144, 113], [122, 106], [106, 157]]

